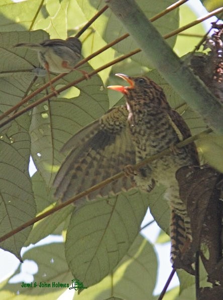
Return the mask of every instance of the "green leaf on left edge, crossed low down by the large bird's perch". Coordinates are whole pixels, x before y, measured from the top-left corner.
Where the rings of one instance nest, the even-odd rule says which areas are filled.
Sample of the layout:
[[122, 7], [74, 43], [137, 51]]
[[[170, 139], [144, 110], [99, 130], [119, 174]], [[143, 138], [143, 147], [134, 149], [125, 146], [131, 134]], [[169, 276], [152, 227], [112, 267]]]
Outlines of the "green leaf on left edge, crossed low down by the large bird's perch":
[[[16, 229], [36, 215], [36, 204], [28, 173], [30, 161], [30, 116], [23, 115], [0, 129], [0, 236]], [[1, 248], [15, 254], [20, 250], [31, 227], [3, 241]]]

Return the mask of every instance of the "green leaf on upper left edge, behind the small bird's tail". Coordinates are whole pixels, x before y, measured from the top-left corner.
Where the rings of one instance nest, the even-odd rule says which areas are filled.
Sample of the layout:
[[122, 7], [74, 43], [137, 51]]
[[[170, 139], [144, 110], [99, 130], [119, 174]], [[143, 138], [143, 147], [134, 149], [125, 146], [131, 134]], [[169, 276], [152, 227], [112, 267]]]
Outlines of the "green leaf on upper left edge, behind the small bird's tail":
[[[34, 71], [39, 61], [35, 51], [26, 48], [14, 48], [21, 42], [38, 43], [47, 39], [46, 32], [5, 32], [0, 34], [0, 109], [6, 111], [16, 105], [32, 89], [36, 89], [42, 78], [37, 78]], [[34, 80], [35, 83], [33, 82]]]

